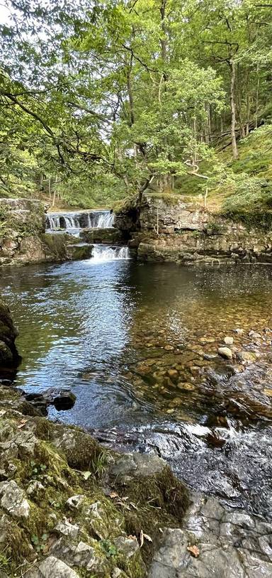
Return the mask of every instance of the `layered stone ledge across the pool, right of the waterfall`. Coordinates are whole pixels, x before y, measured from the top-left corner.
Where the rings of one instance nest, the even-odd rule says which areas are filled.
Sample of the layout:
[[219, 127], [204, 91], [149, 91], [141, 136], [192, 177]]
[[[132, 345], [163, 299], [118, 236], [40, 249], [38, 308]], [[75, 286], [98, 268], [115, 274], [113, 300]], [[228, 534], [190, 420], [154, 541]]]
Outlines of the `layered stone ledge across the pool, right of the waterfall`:
[[200, 200], [145, 193], [119, 209], [116, 227], [130, 232], [140, 261], [178, 264], [272, 263], [272, 232], [204, 209]]

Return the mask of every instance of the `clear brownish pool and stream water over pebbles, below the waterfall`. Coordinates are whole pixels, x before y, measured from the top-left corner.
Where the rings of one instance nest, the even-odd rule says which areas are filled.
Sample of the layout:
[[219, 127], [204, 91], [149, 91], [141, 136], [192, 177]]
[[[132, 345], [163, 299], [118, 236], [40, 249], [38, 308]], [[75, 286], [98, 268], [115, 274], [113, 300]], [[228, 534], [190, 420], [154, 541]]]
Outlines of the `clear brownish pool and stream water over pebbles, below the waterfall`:
[[[0, 290], [20, 332], [16, 385], [77, 396], [51, 418], [272, 515], [271, 268], [75, 261], [3, 269]], [[219, 358], [226, 336], [253, 363]]]

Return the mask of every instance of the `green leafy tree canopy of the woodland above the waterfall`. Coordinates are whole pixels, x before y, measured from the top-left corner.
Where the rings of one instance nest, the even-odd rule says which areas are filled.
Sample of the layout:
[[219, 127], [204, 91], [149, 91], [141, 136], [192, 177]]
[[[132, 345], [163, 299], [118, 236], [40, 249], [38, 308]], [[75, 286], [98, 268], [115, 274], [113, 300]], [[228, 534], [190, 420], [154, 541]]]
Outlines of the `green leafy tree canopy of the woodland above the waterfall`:
[[220, 154], [271, 119], [266, 4], [4, 4], [1, 196], [103, 207], [146, 188], [199, 194], [221, 178], [237, 206], [251, 195], [253, 205], [268, 200], [269, 151], [250, 153], [247, 192], [249, 163], [241, 156], [230, 167]]

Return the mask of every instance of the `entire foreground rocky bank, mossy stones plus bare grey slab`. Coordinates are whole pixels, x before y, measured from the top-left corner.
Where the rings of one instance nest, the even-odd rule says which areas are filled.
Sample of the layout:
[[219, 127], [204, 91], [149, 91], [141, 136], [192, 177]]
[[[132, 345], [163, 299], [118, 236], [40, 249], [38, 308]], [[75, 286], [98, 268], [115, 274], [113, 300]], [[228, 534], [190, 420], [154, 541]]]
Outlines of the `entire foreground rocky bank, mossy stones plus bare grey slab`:
[[154, 454], [118, 454], [0, 386], [0, 575], [268, 578], [272, 525], [193, 494]]

